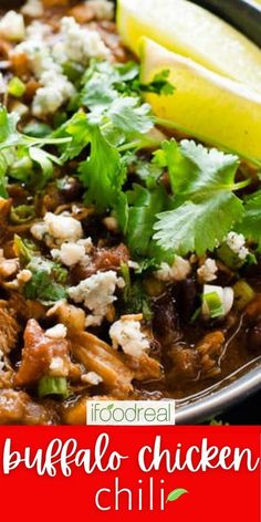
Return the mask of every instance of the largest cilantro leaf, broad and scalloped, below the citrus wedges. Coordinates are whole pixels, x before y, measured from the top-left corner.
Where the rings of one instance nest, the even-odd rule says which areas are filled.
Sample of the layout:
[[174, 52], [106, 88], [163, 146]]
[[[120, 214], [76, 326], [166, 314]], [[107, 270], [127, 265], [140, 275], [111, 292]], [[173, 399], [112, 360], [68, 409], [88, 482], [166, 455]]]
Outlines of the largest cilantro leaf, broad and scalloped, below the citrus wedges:
[[202, 255], [243, 217], [233, 194], [242, 186], [234, 184], [238, 158], [188, 140], [165, 143], [163, 152], [176, 198], [173, 210], [158, 216], [154, 239], [180, 255]]

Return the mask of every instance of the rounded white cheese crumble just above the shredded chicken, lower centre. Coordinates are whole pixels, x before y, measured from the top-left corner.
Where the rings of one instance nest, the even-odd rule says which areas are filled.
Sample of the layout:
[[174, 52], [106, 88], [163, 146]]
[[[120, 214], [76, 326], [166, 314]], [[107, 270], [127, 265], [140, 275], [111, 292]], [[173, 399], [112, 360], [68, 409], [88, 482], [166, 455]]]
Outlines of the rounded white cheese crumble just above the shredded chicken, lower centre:
[[111, 326], [109, 336], [115, 349], [122, 346], [124, 353], [133, 357], [139, 357], [149, 348], [149, 340], [142, 332], [140, 322], [126, 316]]

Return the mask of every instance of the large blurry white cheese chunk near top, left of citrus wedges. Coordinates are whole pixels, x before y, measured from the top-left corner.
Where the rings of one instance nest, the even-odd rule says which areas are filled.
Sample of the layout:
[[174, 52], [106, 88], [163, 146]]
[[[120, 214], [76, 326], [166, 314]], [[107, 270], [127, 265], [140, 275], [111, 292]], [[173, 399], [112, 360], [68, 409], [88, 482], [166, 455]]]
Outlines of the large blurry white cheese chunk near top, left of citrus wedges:
[[92, 58], [109, 55], [98, 32], [81, 27], [72, 17], [62, 18], [61, 38], [61, 42], [53, 46], [53, 56], [59, 63], [73, 60], [86, 65]]

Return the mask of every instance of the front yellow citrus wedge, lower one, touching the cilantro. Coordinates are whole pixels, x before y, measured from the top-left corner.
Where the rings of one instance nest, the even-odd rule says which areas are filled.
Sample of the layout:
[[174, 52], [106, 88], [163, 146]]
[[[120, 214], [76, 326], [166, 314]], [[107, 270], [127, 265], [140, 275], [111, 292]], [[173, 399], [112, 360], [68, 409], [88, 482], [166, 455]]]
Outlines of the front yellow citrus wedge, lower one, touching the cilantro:
[[142, 82], [163, 70], [176, 91], [169, 96], [148, 94], [159, 118], [177, 129], [244, 158], [261, 161], [261, 95], [175, 54], [147, 38], [140, 40]]

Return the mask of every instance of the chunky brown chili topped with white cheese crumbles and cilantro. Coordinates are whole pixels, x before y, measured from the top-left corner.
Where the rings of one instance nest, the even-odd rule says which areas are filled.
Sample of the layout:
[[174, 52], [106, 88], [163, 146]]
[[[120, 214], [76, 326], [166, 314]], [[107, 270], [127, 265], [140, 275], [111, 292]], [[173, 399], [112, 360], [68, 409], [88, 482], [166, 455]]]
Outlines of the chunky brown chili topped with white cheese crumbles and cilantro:
[[165, 134], [114, 7], [0, 19], [0, 424], [182, 398], [261, 353], [258, 168]]

